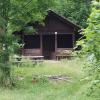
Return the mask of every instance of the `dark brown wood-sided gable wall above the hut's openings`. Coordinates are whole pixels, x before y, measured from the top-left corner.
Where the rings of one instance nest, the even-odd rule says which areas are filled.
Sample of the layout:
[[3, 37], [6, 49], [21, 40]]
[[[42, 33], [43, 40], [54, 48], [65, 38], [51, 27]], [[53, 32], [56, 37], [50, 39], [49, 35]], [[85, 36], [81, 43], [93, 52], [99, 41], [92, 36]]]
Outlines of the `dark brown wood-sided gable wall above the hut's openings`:
[[54, 32], [58, 32], [60, 34], [73, 34], [74, 28], [66, 23], [63, 23], [55, 16], [47, 16], [45, 26], [39, 27], [38, 31], [44, 34], [54, 34]]

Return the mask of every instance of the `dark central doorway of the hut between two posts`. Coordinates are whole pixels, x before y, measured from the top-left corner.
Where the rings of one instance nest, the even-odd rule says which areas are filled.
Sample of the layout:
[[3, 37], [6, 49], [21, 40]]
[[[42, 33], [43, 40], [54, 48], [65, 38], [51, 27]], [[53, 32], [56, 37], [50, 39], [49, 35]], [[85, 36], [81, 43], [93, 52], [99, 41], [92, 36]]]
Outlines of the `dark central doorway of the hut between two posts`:
[[55, 35], [43, 35], [42, 51], [45, 59], [51, 59], [55, 52]]

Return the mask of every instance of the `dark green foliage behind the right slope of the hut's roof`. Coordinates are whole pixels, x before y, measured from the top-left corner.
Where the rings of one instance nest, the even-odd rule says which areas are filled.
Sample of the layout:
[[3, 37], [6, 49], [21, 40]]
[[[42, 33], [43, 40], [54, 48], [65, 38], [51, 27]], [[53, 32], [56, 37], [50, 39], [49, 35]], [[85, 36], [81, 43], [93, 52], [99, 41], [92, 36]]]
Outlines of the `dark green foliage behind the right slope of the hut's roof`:
[[86, 27], [91, 11], [91, 0], [55, 0], [55, 10], [74, 23]]

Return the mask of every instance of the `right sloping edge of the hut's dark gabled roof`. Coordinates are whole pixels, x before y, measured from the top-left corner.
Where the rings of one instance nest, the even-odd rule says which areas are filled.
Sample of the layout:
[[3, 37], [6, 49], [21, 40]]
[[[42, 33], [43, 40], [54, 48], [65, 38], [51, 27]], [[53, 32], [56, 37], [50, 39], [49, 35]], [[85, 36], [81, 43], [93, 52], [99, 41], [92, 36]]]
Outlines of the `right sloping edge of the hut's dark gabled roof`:
[[49, 14], [52, 14], [54, 15], [55, 17], [57, 17], [59, 20], [61, 20], [62, 22], [66, 23], [66, 24], [69, 24], [70, 26], [76, 28], [77, 30], [81, 29], [80, 26], [76, 25], [75, 23], [73, 23], [72, 21], [70, 21], [69, 19], [57, 14], [56, 12], [54, 12], [53, 10], [48, 10], [48, 15]]

